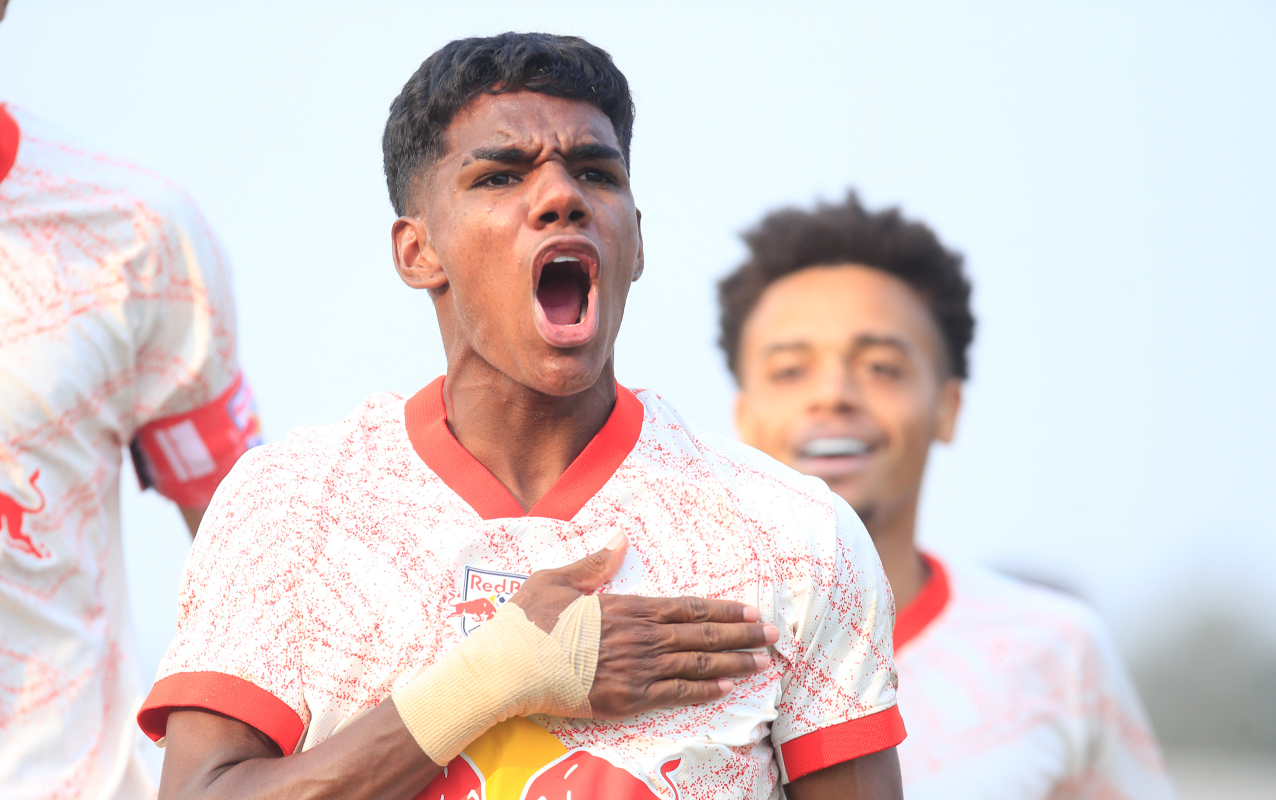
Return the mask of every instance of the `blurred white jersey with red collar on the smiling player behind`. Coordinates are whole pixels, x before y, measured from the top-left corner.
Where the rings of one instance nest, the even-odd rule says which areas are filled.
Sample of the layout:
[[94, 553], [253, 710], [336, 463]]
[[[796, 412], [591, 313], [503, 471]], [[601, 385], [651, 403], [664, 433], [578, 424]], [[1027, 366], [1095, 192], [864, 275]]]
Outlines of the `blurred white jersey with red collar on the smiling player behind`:
[[1085, 605], [925, 556], [894, 629], [909, 800], [1161, 800], [1174, 790], [1104, 624]]

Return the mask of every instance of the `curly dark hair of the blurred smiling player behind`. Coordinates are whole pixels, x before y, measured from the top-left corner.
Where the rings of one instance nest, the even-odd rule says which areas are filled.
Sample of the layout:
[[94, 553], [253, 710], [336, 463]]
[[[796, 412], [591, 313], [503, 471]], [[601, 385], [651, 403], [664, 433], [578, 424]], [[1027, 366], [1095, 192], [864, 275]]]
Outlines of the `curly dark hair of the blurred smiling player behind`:
[[906, 219], [898, 208], [870, 212], [855, 191], [815, 211], [783, 208], [744, 235], [749, 260], [718, 283], [718, 346], [740, 380], [740, 334], [762, 293], [780, 278], [808, 267], [861, 264], [907, 283], [925, 301], [943, 336], [949, 374], [965, 380], [966, 351], [975, 338], [970, 281], [962, 256], [934, 231]]

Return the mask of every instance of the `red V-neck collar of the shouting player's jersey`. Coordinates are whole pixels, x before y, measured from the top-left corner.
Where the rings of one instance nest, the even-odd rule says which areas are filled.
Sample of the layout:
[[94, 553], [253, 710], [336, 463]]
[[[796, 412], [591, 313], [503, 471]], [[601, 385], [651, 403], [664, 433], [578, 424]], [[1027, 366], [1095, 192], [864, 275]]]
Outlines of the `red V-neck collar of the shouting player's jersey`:
[[572, 519], [611, 480], [642, 433], [642, 402], [618, 383], [616, 404], [602, 430], [554, 481], [545, 496], [524, 512], [509, 489], [452, 435], [443, 404], [443, 380], [438, 378], [407, 399], [403, 406], [407, 438], [425, 466], [484, 519]]

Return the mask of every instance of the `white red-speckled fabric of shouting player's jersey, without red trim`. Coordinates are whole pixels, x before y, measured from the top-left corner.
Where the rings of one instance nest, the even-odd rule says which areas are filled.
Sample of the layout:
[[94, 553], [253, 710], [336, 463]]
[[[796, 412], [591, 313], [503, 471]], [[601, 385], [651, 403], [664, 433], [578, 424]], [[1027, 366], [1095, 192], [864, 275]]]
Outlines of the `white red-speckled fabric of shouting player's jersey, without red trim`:
[[214, 498], [182, 578], [157, 680], [168, 699], [144, 708], [179, 704], [172, 686], [185, 674], [223, 672], [293, 709], [304, 734], [279, 743], [286, 753], [313, 748], [456, 646], [464, 567], [526, 575], [624, 531], [628, 558], [604, 591], [753, 604], [781, 630], [775, 666], [720, 703], [623, 722], [537, 716], [536, 730], [564, 752], [633, 764], [657, 796], [671, 796], [660, 773], [671, 759], [681, 797], [778, 796], [773, 744], [894, 713], [880, 563], [823, 482], [695, 434], [651, 392], [635, 396], [637, 444], [568, 521], [482, 519], [413, 450], [392, 394], [250, 452]]

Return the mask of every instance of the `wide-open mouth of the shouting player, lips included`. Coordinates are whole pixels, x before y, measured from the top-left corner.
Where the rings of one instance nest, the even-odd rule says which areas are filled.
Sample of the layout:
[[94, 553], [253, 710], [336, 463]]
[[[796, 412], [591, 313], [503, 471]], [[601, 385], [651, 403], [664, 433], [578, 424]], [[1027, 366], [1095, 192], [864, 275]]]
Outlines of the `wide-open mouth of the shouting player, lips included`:
[[550, 244], [533, 264], [536, 329], [554, 347], [579, 347], [598, 329], [598, 251], [592, 242]]

